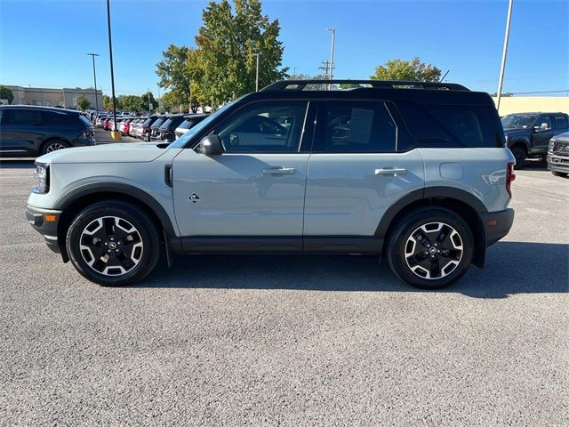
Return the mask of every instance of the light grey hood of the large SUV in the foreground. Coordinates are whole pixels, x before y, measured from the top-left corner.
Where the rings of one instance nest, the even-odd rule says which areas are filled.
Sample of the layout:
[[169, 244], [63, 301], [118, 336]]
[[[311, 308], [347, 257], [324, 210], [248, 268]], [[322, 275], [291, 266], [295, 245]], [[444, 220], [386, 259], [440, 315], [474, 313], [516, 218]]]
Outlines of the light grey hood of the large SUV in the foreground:
[[129, 142], [58, 149], [36, 161], [41, 163], [142, 163], [162, 156], [166, 149], [153, 142]]

